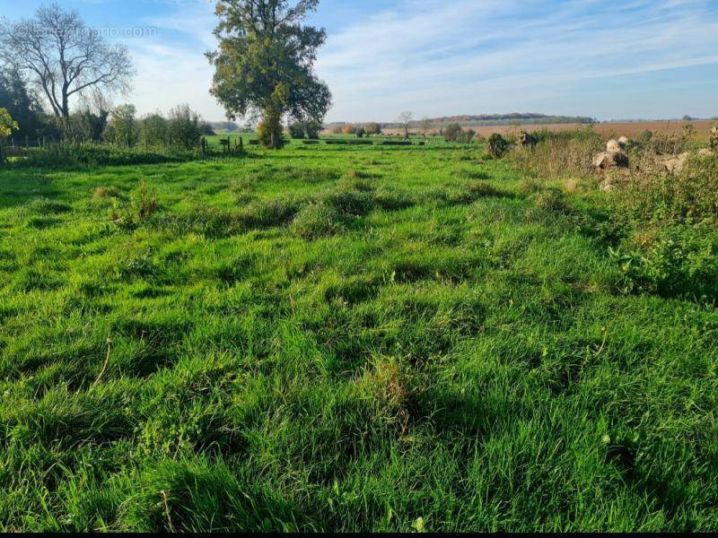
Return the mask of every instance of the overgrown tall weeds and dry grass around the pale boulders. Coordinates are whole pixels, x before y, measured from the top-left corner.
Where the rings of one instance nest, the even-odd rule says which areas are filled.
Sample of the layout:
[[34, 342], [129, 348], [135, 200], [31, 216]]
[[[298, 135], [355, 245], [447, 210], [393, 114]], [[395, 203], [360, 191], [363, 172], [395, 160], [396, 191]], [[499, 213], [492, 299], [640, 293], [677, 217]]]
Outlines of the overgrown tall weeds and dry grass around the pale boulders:
[[622, 237], [609, 252], [627, 291], [718, 300], [718, 158], [694, 154], [673, 172], [661, 164], [666, 154], [690, 147], [690, 129], [639, 136], [629, 145], [630, 169], [609, 172], [592, 169], [603, 141], [591, 129], [534, 136], [535, 148], [511, 153], [514, 166], [548, 182], [565, 176], [594, 187], [611, 182], [611, 194], [601, 197]]

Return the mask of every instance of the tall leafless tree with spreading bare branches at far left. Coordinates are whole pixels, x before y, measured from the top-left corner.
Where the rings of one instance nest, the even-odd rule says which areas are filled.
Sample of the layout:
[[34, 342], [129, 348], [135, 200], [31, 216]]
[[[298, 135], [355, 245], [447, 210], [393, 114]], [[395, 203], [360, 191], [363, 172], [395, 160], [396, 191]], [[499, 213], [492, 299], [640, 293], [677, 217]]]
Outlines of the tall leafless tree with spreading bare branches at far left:
[[126, 93], [135, 71], [127, 48], [110, 44], [75, 11], [40, 7], [32, 19], [0, 24], [0, 58], [45, 94], [57, 117], [86, 91]]

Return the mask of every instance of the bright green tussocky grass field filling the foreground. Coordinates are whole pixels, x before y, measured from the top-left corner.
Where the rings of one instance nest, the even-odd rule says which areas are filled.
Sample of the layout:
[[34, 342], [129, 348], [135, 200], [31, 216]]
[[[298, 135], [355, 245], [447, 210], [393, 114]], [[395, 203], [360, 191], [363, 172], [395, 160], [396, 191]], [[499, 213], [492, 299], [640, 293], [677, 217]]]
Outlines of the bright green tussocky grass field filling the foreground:
[[718, 311], [611, 223], [479, 146], [0, 170], [0, 530], [718, 529]]

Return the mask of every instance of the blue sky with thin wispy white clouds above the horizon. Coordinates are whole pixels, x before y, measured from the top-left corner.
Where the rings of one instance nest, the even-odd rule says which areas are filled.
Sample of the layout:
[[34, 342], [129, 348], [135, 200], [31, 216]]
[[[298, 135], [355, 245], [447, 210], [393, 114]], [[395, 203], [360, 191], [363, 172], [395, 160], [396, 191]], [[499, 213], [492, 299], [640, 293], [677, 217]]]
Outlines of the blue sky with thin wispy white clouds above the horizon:
[[[0, 0], [28, 16], [39, 0]], [[60, 0], [117, 29], [135, 58], [140, 112], [187, 102], [206, 119], [214, 48], [210, 0]], [[718, 0], [323, 0], [317, 73], [328, 121], [543, 112], [599, 117], [718, 116]], [[124, 38], [126, 29], [151, 28]], [[115, 35], [108, 30], [109, 35]]]

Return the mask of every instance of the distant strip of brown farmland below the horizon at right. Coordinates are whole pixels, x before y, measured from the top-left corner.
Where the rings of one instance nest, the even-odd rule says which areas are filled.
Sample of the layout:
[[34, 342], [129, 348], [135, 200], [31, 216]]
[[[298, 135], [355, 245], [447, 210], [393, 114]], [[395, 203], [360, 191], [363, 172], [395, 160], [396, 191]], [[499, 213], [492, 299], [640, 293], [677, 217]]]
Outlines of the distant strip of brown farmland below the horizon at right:
[[[686, 126], [691, 124], [696, 128], [696, 140], [700, 142], [706, 142], [708, 135], [715, 123], [714, 120], [699, 120], [699, 121], [641, 121], [641, 122], [607, 122], [594, 124], [593, 128], [600, 134], [603, 134], [606, 138], [612, 136], [628, 136], [633, 137], [637, 134], [644, 132], [645, 130], [660, 132], [660, 133], [671, 133], [679, 131]], [[572, 129], [586, 128], [585, 124], [548, 124], [548, 125], [521, 125], [527, 132], [532, 133], [540, 129], [549, 129], [551, 131], [567, 131]], [[488, 136], [489, 134], [509, 134], [514, 129], [514, 126], [465, 126], [464, 129], [473, 129], [478, 134]], [[420, 129], [410, 129], [412, 133], [421, 134]], [[435, 132], [435, 130], [434, 130]], [[386, 134], [403, 134], [400, 129], [385, 129]]]

